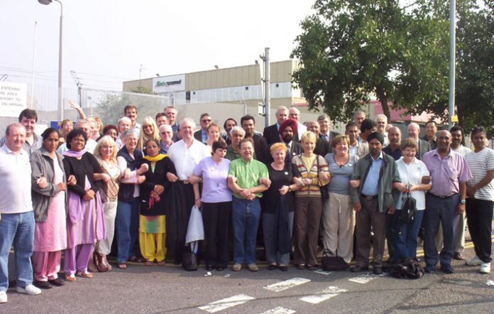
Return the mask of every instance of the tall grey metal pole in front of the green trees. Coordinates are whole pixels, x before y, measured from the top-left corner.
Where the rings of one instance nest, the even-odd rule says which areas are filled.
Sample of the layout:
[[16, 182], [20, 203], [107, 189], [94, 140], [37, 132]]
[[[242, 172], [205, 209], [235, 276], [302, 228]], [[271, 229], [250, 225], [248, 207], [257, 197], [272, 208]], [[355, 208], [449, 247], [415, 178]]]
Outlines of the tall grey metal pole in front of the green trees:
[[453, 126], [451, 117], [454, 116], [455, 94], [455, 59], [456, 59], [456, 0], [449, 1], [449, 96], [448, 96], [448, 124]]

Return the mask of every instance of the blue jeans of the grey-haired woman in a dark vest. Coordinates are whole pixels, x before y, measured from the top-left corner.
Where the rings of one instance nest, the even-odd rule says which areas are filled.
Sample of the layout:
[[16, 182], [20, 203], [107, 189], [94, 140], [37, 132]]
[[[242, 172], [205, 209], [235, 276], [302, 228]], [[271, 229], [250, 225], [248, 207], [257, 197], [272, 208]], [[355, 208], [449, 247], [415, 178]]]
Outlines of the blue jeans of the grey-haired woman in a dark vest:
[[139, 199], [116, 205], [116, 262], [125, 263], [129, 257], [136, 256], [133, 250], [139, 235]]

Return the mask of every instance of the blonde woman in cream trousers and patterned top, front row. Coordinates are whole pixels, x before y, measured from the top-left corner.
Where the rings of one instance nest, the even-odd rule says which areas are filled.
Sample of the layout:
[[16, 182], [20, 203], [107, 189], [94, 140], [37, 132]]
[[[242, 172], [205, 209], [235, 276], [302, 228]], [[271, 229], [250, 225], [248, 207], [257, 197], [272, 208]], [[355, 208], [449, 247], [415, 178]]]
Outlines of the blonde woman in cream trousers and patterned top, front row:
[[115, 234], [115, 217], [117, 198], [119, 196], [119, 181], [121, 170], [116, 163], [116, 153], [119, 149], [111, 136], [103, 136], [99, 139], [96, 148], [94, 148], [94, 157], [96, 157], [99, 166], [106, 175], [101, 175], [103, 184], [100, 190], [101, 202], [103, 204], [104, 222], [106, 225], [106, 238], [97, 242], [94, 248], [94, 259], [99, 271], [108, 271], [111, 269], [106, 255], [110, 254], [111, 242]]

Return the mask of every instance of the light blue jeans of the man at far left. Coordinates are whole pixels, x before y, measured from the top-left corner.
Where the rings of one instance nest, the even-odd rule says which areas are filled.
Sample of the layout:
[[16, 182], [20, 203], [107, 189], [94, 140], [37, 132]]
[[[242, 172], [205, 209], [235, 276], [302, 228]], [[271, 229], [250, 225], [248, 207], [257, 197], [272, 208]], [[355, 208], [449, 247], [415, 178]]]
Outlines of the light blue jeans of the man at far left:
[[34, 212], [2, 214], [0, 221], [0, 291], [9, 288], [9, 253], [13, 244], [17, 286], [33, 283], [31, 255], [34, 242]]

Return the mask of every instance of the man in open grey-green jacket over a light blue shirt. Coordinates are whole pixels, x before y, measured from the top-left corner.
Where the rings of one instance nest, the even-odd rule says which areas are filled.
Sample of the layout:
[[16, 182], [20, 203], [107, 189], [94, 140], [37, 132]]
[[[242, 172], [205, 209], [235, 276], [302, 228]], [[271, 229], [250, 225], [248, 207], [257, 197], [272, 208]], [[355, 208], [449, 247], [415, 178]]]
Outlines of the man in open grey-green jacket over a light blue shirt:
[[[368, 136], [368, 155], [353, 169], [351, 199], [356, 213], [356, 266], [352, 272], [367, 271], [370, 252], [370, 227], [374, 232], [373, 273], [383, 274], [383, 254], [386, 239], [386, 215], [393, 215], [397, 193], [393, 183], [400, 182], [395, 159], [383, 153], [384, 138], [378, 132]], [[356, 184], [358, 181], [358, 185]]]

